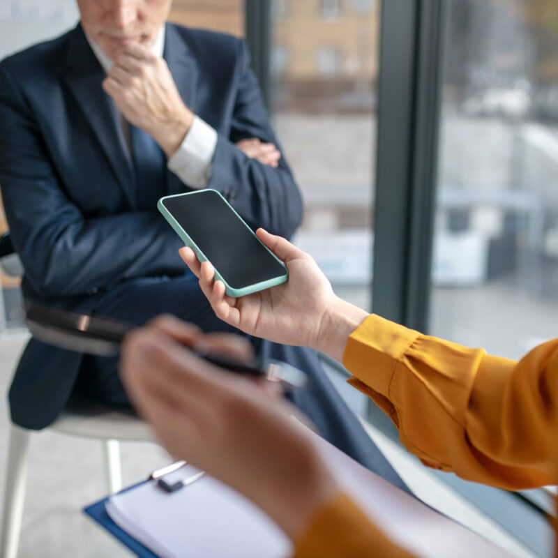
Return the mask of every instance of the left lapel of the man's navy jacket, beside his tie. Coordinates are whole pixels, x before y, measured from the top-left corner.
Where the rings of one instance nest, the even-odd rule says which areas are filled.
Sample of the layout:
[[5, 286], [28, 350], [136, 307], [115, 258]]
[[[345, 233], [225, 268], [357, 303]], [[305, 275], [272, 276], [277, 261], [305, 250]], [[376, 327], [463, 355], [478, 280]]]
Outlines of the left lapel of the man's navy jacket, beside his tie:
[[135, 206], [133, 167], [114, 103], [101, 85], [104, 79], [105, 71], [78, 25], [70, 38], [63, 81], [80, 105], [128, 202]]

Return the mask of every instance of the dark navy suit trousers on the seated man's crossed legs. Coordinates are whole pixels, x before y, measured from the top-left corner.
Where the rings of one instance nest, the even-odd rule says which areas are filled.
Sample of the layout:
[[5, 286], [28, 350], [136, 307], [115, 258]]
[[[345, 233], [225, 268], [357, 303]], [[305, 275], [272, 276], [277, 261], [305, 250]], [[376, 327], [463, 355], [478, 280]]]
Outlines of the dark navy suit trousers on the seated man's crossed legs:
[[[141, 325], [163, 312], [169, 312], [204, 331], [238, 331], [216, 318], [199, 289], [197, 279], [187, 273], [179, 278], [142, 278], [121, 283], [101, 296], [96, 314]], [[256, 353], [285, 361], [306, 372], [310, 389], [289, 394], [296, 407], [306, 414], [322, 436], [368, 469], [407, 490], [384, 455], [368, 437], [333, 384], [326, 377], [318, 356], [306, 347], [278, 345], [253, 339]], [[86, 356], [77, 389], [111, 405], [129, 405], [117, 373], [118, 356]]]

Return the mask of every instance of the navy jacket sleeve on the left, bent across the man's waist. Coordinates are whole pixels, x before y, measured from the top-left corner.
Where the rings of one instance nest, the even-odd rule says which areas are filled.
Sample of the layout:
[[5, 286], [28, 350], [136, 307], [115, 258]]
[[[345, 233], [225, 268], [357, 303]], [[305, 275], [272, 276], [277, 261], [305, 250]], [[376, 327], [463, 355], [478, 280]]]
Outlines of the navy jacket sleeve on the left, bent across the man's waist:
[[181, 241], [158, 213], [86, 218], [53, 157], [47, 132], [0, 65], [0, 186], [15, 249], [38, 294], [70, 296], [126, 278], [183, 273]]

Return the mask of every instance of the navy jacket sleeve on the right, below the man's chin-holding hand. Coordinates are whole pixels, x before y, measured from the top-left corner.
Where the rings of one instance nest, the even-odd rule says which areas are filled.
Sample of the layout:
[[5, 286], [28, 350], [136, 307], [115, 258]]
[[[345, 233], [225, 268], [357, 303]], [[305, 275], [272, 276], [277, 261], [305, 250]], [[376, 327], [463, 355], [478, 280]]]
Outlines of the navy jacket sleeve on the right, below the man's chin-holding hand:
[[280, 146], [250, 69], [246, 43], [237, 43], [238, 89], [228, 137], [218, 135], [209, 188], [229, 195], [232, 205], [253, 228], [289, 238], [302, 220], [302, 199], [294, 178], [281, 157], [277, 168], [247, 157], [234, 143], [246, 137]]

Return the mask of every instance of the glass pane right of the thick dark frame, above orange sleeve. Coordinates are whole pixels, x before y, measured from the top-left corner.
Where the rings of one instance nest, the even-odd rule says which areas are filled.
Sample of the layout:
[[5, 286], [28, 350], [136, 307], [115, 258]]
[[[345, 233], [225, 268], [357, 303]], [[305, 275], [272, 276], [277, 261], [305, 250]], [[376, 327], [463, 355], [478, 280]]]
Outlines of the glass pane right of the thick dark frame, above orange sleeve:
[[449, 11], [430, 332], [515, 359], [558, 334], [558, 3]]

